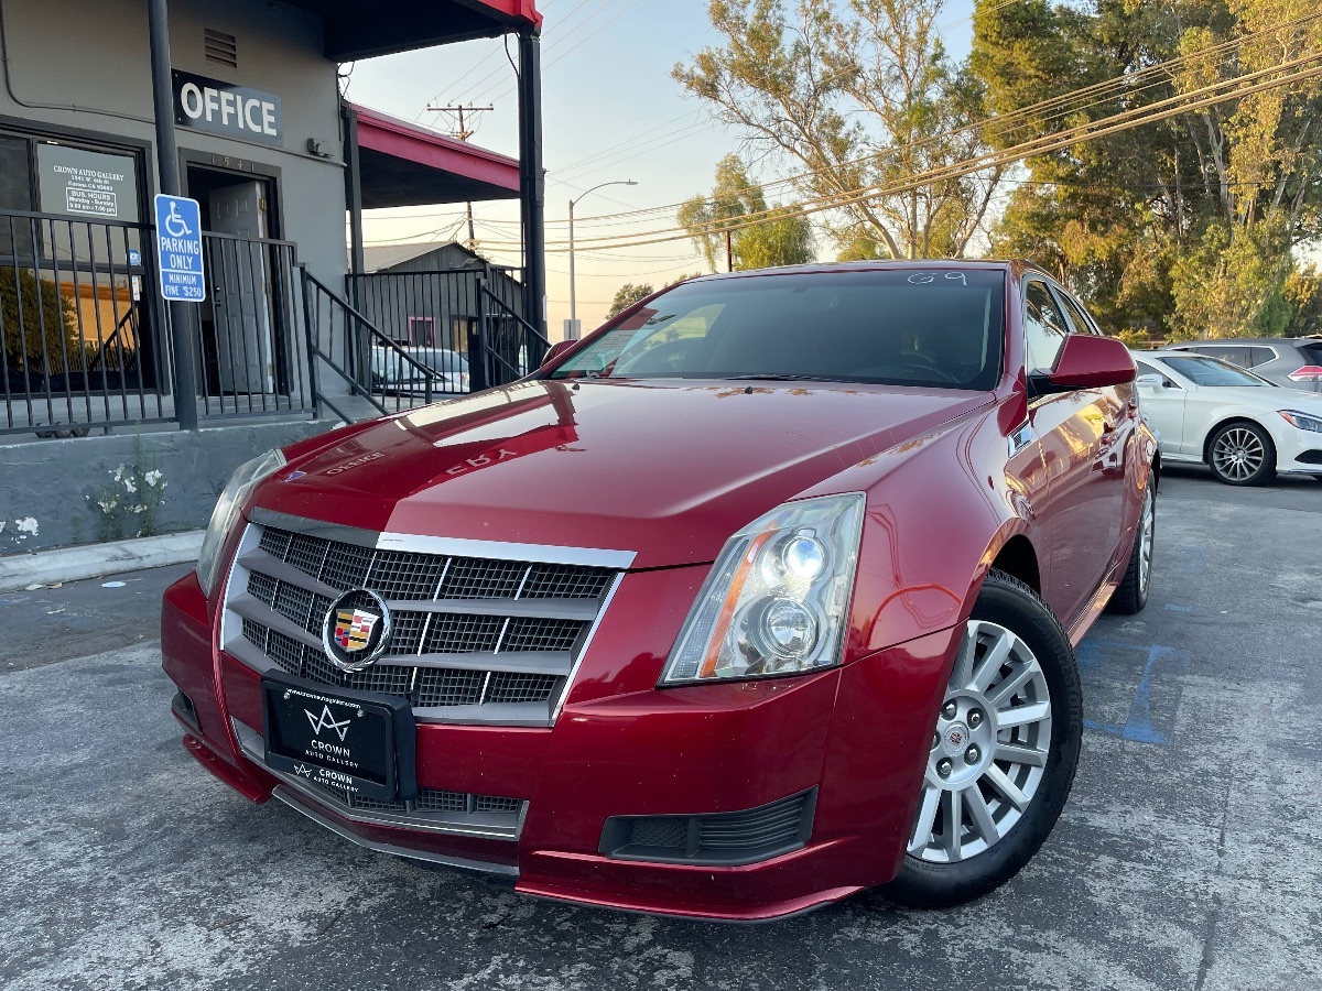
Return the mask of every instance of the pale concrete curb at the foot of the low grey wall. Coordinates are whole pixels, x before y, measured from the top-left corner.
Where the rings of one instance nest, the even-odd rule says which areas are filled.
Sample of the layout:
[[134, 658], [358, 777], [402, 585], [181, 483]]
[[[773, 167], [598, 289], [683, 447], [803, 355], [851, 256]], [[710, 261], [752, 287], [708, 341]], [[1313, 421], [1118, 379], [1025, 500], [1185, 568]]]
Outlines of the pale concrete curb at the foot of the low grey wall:
[[205, 530], [0, 558], [0, 592], [197, 560]]

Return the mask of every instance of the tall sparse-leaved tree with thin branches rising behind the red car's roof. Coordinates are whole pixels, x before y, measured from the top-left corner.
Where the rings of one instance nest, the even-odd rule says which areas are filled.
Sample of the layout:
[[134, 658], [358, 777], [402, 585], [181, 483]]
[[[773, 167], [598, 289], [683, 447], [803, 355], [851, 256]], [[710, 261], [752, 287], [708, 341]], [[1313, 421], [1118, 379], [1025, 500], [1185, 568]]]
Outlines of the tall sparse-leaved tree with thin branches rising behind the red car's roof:
[[992, 202], [999, 169], [895, 196], [895, 184], [982, 148], [981, 83], [953, 69], [940, 42], [943, 0], [710, 0], [723, 44], [677, 65], [674, 78], [751, 145], [802, 173], [832, 205], [843, 250], [869, 237], [891, 258], [962, 255]]

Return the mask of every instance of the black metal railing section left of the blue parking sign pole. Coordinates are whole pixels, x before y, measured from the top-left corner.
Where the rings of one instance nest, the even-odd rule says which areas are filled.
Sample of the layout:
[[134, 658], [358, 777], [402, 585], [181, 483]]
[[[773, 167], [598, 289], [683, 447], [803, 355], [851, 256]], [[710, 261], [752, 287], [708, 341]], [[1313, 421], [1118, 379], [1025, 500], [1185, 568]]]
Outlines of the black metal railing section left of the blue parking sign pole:
[[0, 210], [0, 433], [172, 419], [145, 225]]

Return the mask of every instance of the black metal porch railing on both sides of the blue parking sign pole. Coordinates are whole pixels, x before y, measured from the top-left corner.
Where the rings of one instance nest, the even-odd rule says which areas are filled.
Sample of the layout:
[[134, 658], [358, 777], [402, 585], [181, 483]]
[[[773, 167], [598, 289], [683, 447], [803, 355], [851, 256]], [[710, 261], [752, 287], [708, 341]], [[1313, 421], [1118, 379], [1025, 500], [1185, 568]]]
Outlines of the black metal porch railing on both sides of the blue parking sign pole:
[[[0, 433], [177, 422], [175, 328], [141, 223], [0, 211]], [[208, 300], [188, 311], [198, 419], [312, 415], [291, 242], [204, 233]]]

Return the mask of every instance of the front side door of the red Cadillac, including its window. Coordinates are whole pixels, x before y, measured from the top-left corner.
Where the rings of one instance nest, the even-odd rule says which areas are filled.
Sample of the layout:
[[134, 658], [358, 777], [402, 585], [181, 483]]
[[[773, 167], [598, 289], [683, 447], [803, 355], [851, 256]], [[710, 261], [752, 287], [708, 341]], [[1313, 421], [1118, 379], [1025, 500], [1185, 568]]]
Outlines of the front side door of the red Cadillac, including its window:
[[[1023, 308], [1027, 369], [1051, 371], [1069, 321], [1035, 276], [1025, 280]], [[1101, 584], [1120, 538], [1124, 478], [1110, 452], [1120, 425], [1114, 407], [1114, 396], [1101, 388], [1038, 396], [1029, 406], [1047, 474], [1046, 506], [1038, 506], [1050, 542], [1043, 597], [1066, 625]]]

